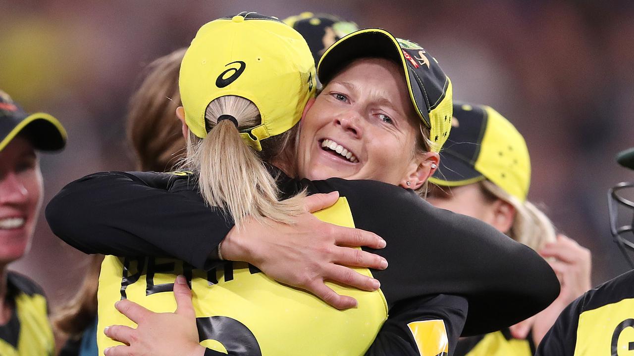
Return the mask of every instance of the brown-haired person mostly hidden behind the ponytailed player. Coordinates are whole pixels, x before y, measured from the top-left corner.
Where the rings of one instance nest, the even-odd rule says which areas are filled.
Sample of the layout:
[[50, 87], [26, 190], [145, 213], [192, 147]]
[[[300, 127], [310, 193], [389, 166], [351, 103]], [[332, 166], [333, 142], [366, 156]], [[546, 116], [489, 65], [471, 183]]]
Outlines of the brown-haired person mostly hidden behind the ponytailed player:
[[[174, 118], [181, 106], [178, 72], [185, 48], [152, 61], [129, 103], [127, 139], [139, 170], [174, 170], [185, 149], [181, 122]], [[90, 257], [79, 291], [53, 317], [57, 331], [68, 336], [58, 356], [93, 356], [97, 349], [97, 286], [103, 255]]]

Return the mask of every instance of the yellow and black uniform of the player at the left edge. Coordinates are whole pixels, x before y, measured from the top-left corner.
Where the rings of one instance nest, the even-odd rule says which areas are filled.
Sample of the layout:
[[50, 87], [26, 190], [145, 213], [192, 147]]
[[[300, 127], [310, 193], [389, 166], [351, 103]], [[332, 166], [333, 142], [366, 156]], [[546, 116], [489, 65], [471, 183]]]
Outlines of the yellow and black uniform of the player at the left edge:
[[29, 278], [8, 272], [6, 298], [13, 310], [9, 321], [0, 325], [0, 355], [52, 356], [55, 341], [42, 289]]

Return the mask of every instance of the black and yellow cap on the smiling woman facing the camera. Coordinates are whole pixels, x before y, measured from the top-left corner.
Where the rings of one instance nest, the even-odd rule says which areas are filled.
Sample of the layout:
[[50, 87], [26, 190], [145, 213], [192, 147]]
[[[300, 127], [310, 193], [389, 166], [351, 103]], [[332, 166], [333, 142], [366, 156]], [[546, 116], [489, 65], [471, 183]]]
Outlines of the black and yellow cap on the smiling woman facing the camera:
[[335, 42], [321, 57], [318, 76], [326, 85], [358, 58], [380, 57], [401, 63], [411, 103], [430, 130], [432, 151], [440, 151], [451, 129], [451, 80], [418, 44], [394, 37], [383, 29], [364, 29]]

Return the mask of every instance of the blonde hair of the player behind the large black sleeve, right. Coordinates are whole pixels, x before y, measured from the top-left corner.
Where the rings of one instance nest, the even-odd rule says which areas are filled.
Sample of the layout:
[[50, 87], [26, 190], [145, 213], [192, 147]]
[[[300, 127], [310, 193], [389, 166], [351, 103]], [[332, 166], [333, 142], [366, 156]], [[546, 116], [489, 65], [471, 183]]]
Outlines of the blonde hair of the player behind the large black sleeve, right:
[[508, 194], [493, 182], [485, 180], [479, 182], [485, 193], [495, 198], [507, 201], [515, 208], [515, 219], [507, 235], [515, 241], [529, 246], [535, 251], [540, 250], [546, 243], [557, 239], [555, 227], [545, 213], [541, 212], [530, 201], [520, 201]]

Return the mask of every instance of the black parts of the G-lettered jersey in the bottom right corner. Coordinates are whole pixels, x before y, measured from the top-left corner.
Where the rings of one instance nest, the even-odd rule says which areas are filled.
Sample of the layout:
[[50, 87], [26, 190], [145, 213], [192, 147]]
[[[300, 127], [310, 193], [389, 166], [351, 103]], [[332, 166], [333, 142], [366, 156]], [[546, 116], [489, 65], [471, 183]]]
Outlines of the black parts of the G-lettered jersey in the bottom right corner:
[[[579, 315], [588, 310], [595, 310], [604, 305], [630, 298], [634, 298], [634, 270], [625, 272], [621, 276], [590, 289], [570, 303], [559, 314], [555, 324], [541, 340], [535, 354], [537, 356], [574, 356]], [[615, 321], [628, 317], [628, 315], [613, 316]], [[632, 317], [632, 315], [629, 316]], [[605, 346], [606, 350], [610, 350], [610, 345]], [[606, 354], [607, 352], [609, 351], [606, 351]]]

